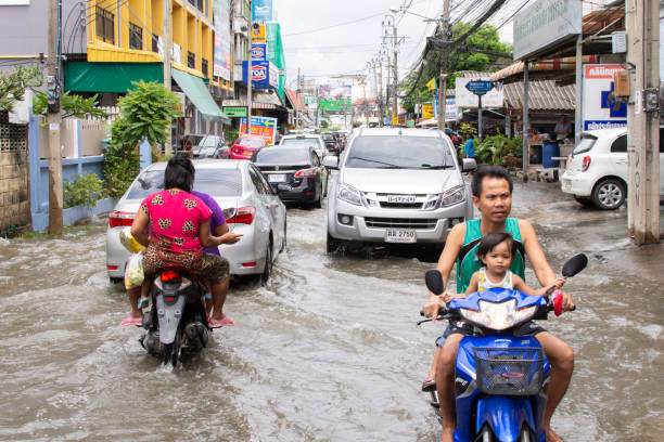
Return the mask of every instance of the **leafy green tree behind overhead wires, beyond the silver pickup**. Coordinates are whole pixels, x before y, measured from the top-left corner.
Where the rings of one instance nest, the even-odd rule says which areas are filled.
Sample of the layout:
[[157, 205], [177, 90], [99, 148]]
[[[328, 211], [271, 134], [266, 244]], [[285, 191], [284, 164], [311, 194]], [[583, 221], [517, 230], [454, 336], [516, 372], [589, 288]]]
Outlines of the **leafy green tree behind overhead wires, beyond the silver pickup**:
[[[459, 23], [452, 28], [455, 38], [464, 34], [472, 25], [468, 23]], [[473, 32], [460, 47], [456, 48], [448, 56], [448, 76], [447, 88], [454, 89], [456, 79], [459, 77], [460, 70], [478, 70], [488, 72], [496, 67], [501, 67], [512, 61], [512, 47], [500, 42], [498, 30], [490, 25], [482, 25]], [[404, 107], [408, 112], [414, 112], [414, 104], [420, 102], [431, 101], [432, 92], [426, 89], [426, 83], [432, 78], [440, 76], [440, 51], [433, 48], [429, 49], [426, 56], [421, 67], [422, 73], [411, 72], [406, 80], [399, 84], [401, 93], [407, 93], [412, 90], [407, 98], [404, 99]], [[417, 84], [416, 84], [417, 80]], [[414, 86], [414, 88], [413, 88]]]

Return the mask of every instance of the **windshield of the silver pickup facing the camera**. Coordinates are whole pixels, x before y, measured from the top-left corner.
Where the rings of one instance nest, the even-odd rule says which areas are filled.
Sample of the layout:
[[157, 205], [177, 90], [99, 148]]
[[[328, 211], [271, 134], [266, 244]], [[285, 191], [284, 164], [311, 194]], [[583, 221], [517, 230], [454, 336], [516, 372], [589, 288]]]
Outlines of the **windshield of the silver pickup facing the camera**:
[[371, 169], [451, 169], [456, 160], [437, 136], [358, 136], [345, 167]]

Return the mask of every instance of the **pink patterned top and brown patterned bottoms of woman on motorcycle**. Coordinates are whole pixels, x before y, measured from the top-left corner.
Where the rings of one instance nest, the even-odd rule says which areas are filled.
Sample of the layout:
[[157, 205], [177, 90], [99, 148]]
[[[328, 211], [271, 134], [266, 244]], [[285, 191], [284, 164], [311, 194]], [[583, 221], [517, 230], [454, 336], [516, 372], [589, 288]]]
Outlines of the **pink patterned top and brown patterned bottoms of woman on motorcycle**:
[[143, 199], [139, 210], [150, 218], [150, 244], [143, 257], [145, 274], [177, 265], [213, 283], [228, 277], [228, 261], [203, 252], [199, 227], [212, 211], [201, 198], [170, 188]]

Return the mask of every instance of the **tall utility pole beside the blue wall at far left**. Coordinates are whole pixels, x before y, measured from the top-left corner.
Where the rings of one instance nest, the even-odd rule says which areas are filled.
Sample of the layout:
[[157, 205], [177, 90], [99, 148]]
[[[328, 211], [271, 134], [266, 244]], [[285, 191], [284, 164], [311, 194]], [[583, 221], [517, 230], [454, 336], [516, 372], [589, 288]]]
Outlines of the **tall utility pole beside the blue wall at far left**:
[[49, 60], [47, 100], [49, 114], [49, 233], [62, 234], [62, 152], [60, 147], [60, 1], [49, 6]]

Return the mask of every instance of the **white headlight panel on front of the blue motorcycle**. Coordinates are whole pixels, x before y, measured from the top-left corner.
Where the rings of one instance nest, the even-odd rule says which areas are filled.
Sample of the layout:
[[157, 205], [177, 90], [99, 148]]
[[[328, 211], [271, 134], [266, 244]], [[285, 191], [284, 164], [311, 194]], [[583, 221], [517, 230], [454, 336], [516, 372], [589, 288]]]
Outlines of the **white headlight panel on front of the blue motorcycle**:
[[533, 317], [537, 306], [516, 310], [516, 300], [505, 302], [478, 302], [480, 311], [459, 309], [463, 318], [493, 330], [505, 330]]

